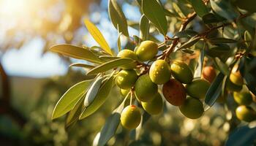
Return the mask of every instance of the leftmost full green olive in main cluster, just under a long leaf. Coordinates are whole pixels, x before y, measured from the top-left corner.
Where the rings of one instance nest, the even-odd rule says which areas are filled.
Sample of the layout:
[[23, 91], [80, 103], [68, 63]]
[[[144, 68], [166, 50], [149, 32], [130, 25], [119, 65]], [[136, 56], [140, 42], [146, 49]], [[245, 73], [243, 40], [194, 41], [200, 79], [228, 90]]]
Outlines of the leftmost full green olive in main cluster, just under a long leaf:
[[129, 89], [135, 84], [136, 80], [138, 79], [138, 75], [135, 70], [121, 70], [116, 75], [116, 85], [122, 89]]

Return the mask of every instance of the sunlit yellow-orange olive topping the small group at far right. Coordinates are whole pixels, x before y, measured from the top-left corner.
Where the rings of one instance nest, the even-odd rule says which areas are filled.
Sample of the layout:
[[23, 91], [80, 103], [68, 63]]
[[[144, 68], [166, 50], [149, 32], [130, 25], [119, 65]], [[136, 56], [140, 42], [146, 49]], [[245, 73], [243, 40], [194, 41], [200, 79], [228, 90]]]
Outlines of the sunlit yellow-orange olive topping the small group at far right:
[[243, 77], [241, 76], [241, 73], [238, 70], [238, 65], [233, 66], [233, 69], [231, 70], [231, 73], [230, 73], [230, 81], [236, 85], [244, 84]]

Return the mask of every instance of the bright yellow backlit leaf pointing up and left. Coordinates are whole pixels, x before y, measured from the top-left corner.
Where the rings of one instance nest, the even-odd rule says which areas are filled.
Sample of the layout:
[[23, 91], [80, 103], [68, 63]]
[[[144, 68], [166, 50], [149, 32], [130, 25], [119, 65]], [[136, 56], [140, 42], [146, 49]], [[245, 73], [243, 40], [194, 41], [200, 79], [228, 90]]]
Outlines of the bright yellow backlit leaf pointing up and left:
[[106, 53], [113, 55], [111, 48], [108, 45], [108, 42], [106, 42], [105, 38], [103, 37], [99, 29], [96, 26], [94, 26], [94, 24], [91, 23], [91, 21], [89, 20], [84, 20], [84, 23], [86, 25], [86, 28], [90, 32], [91, 36], [100, 45], [100, 47], [102, 47], [102, 49], [105, 50]]

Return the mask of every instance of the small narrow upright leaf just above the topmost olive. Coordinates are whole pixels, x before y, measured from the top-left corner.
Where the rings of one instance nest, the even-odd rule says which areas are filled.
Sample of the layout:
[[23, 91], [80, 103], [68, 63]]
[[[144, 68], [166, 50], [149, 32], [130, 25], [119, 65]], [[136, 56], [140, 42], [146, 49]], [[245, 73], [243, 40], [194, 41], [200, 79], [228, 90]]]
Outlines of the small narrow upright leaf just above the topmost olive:
[[149, 36], [149, 21], [146, 15], [142, 15], [140, 18], [140, 39], [143, 41], [148, 40]]

